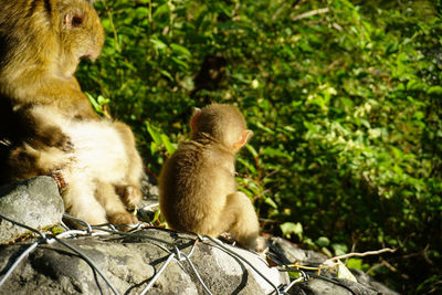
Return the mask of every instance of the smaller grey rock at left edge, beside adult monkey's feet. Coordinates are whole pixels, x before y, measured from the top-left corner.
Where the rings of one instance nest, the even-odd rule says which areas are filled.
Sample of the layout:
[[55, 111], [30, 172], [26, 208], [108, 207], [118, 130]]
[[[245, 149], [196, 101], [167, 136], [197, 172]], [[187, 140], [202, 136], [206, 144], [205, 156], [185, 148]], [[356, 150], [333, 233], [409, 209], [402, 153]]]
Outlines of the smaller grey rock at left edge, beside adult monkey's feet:
[[[42, 230], [60, 224], [64, 212], [59, 188], [51, 177], [36, 177], [0, 188], [0, 213]], [[0, 218], [0, 243], [9, 243], [30, 231]]]

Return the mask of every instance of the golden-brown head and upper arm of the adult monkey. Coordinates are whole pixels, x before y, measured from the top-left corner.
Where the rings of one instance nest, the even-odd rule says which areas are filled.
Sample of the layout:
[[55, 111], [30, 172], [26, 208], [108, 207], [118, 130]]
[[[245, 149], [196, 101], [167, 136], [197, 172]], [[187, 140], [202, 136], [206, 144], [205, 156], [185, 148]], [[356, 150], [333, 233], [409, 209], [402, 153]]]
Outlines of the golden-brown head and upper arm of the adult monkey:
[[56, 106], [71, 117], [97, 118], [74, 73], [96, 59], [104, 31], [84, 0], [0, 0], [0, 93], [14, 109]]

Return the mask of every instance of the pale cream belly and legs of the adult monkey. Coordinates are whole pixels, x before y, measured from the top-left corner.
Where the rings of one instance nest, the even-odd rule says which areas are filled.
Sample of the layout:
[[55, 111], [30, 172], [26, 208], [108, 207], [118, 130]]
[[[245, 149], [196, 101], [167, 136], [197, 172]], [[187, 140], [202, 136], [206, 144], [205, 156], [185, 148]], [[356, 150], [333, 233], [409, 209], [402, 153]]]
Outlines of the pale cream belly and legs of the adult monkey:
[[[91, 224], [137, 222], [126, 206], [140, 201], [143, 164], [135, 144], [126, 143], [134, 139], [131, 134], [129, 138], [122, 135], [126, 131], [122, 128], [125, 125], [112, 120], [69, 119], [50, 106], [35, 106], [32, 113], [61, 126], [71, 139], [72, 151], [54, 148], [34, 151], [39, 152], [40, 167], [62, 171], [67, 183], [62, 192], [66, 211]], [[124, 196], [117, 194], [118, 188], [123, 188]]]

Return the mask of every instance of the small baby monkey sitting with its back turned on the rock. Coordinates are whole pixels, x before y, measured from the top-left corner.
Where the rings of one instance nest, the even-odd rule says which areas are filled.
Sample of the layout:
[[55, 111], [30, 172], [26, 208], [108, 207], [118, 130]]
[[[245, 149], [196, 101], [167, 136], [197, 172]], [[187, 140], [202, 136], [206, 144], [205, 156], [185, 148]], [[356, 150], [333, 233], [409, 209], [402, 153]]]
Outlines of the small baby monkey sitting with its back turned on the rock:
[[181, 143], [159, 177], [159, 204], [173, 230], [219, 236], [232, 233], [255, 250], [259, 222], [251, 200], [236, 190], [235, 155], [251, 130], [233, 106], [212, 104], [190, 120], [192, 137]]

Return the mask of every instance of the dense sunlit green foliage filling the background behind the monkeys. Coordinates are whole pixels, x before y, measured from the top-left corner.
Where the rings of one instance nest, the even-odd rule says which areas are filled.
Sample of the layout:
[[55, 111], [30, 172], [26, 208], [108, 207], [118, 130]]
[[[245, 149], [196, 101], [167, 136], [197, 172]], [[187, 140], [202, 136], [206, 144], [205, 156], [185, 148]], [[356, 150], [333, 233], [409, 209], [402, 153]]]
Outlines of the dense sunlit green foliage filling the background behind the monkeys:
[[440, 0], [96, 7], [105, 49], [77, 76], [133, 126], [151, 176], [192, 107], [235, 104], [255, 133], [239, 182], [264, 231], [332, 255], [398, 247], [351, 267], [404, 294], [442, 291]]

